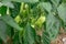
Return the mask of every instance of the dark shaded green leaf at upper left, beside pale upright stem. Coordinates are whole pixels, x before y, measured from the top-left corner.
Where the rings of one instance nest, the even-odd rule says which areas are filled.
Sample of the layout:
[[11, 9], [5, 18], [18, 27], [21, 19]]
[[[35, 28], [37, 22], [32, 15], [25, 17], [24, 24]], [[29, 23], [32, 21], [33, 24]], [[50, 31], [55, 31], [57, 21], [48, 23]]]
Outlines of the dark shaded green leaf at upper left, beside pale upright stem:
[[10, 10], [11, 16], [15, 18], [19, 14], [19, 12], [20, 12], [20, 6], [21, 6], [21, 3], [19, 3], [19, 2], [12, 2], [12, 4], [14, 6], [14, 8], [13, 9], [9, 9], [9, 10]]

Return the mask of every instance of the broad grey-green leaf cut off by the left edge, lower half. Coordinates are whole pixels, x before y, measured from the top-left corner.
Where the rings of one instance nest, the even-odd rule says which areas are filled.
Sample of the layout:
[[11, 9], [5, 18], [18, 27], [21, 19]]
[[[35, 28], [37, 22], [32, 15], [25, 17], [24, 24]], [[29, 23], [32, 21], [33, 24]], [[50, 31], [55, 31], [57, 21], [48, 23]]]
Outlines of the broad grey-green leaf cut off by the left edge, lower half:
[[0, 37], [7, 42], [7, 24], [0, 19]]

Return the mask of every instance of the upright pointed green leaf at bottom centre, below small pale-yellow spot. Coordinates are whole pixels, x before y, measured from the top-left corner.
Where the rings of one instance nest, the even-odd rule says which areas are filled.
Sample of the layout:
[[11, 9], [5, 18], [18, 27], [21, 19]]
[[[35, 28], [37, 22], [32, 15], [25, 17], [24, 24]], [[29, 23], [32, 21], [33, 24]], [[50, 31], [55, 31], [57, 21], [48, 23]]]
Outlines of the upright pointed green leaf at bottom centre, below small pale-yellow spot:
[[31, 28], [30, 23], [26, 24], [23, 38], [24, 38], [23, 44], [34, 44], [35, 42], [35, 30]]

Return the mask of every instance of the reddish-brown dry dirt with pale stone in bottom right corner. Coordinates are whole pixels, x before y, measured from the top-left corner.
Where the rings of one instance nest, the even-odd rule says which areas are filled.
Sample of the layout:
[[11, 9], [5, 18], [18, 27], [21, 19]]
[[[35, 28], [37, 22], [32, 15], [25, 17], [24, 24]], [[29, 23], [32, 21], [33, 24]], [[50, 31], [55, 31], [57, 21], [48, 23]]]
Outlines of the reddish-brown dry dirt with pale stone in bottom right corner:
[[61, 28], [61, 34], [51, 44], [66, 44], [66, 32]]

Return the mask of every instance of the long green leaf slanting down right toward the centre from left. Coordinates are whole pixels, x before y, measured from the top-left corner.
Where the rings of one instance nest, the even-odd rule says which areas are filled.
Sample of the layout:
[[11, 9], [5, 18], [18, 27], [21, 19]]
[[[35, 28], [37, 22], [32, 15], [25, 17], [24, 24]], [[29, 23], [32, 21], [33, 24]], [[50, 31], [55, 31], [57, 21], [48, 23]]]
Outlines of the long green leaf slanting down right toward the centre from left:
[[22, 30], [22, 28], [20, 28], [19, 24], [16, 24], [16, 23], [14, 22], [14, 20], [13, 20], [10, 15], [3, 15], [3, 16], [2, 16], [2, 20], [3, 20], [7, 24], [9, 24], [10, 26], [16, 29], [18, 31], [21, 31], [21, 30]]

